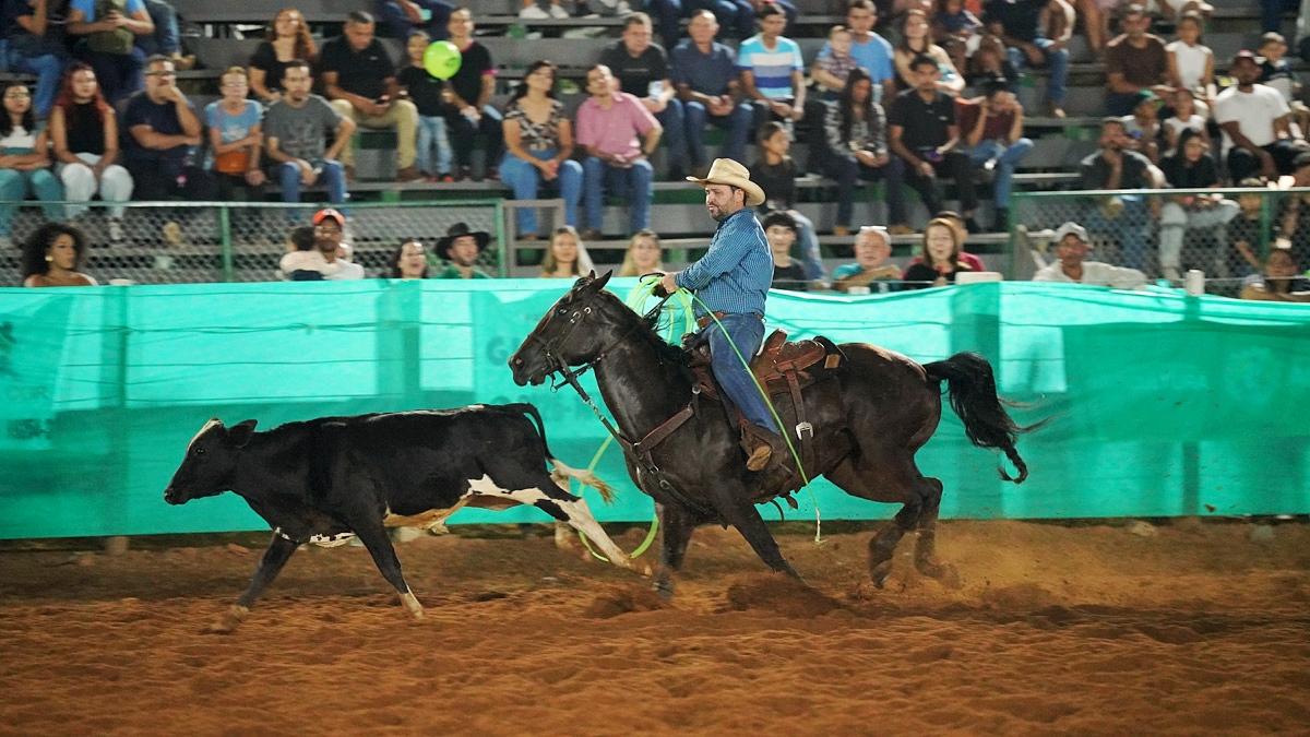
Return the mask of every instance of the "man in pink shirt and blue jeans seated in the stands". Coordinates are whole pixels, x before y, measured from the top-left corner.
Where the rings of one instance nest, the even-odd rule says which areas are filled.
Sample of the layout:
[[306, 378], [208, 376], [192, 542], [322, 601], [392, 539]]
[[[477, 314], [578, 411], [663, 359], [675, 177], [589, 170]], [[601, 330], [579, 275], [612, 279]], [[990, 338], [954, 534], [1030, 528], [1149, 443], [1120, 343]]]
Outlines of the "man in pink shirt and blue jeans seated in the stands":
[[582, 164], [583, 240], [599, 240], [604, 190], [626, 195], [630, 231], [650, 228], [654, 174], [648, 156], [664, 130], [641, 100], [617, 92], [609, 67], [587, 71], [591, 97], [578, 109], [578, 144], [587, 151]]

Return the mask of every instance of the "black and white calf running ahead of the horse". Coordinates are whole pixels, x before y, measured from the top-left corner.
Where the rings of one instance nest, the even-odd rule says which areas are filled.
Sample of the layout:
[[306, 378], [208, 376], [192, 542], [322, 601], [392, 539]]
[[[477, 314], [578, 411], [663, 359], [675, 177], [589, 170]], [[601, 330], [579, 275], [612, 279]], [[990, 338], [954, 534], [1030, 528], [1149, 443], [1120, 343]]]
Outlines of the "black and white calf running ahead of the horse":
[[386, 527], [434, 527], [465, 505], [536, 506], [584, 532], [614, 565], [635, 568], [587, 502], [569, 493], [567, 479], [607, 500], [609, 487], [550, 454], [531, 404], [321, 417], [263, 433], [255, 422], [225, 428], [210, 420], [164, 489], [164, 501], [174, 505], [236, 492], [272, 527], [231, 624], [249, 612], [301, 543], [339, 544], [355, 535], [405, 608], [421, 618], [423, 607], [405, 584]]

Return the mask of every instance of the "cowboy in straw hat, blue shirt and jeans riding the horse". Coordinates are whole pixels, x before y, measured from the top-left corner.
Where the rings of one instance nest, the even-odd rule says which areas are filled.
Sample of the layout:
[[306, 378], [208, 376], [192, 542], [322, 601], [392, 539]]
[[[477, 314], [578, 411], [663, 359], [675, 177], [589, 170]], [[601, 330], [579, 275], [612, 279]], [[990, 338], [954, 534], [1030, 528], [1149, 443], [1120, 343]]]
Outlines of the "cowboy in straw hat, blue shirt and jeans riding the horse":
[[769, 403], [744, 363], [764, 341], [764, 300], [773, 281], [769, 241], [753, 210], [764, 203], [764, 190], [731, 159], [717, 159], [703, 180], [686, 181], [705, 188], [705, 207], [719, 226], [705, 256], [683, 271], [664, 274], [660, 286], [668, 294], [679, 287], [696, 292], [697, 324], [710, 344], [714, 378], [748, 421], [743, 430], [753, 450], [747, 468], [760, 471], [774, 451], [786, 450]]

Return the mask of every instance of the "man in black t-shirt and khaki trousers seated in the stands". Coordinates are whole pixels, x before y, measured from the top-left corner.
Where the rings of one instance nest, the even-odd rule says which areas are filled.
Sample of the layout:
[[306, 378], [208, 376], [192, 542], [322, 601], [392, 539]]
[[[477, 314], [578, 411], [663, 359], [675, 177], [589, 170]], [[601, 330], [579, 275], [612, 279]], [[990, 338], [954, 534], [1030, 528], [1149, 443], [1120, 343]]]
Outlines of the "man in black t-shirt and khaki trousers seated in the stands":
[[[422, 174], [414, 167], [418, 109], [400, 98], [396, 63], [373, 37], [373, 16], [355, 10], [346, 16], [345, 33], [324, 43], [318, 54], [324, 88], [333, 108], [365, 129], [396, 126], [396, 181], [409, 182]], [[346, 178], [354, 180], [355, 152], [350, 143], [341, 151]]]

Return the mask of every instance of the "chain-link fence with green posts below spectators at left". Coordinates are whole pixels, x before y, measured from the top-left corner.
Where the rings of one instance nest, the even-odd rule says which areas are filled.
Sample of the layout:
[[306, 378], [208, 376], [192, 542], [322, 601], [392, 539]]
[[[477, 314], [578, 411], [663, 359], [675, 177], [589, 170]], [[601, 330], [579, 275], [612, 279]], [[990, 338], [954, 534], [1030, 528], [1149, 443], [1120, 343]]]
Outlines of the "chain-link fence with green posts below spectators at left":
[[[18, 210], [0, 248], [0, 286], [18, 286], [18, 248], [45, 222], [41, 207]], [[0, 207], [7, 205], [0, 203]], [[132, 285], [278, 281], [278, 261], [287, 237], [308, 224], [322, 205], [283, 203], [135, 203], [122, 216], [101, 202], [69, 219], [90, 240], [83, 270], [101, 283]], [[464, 222], [473, 231], [496, 235], [495, 247], [479, 257], [479, 268], [504, 275], [499, 199], [358, 203], [335, 206], [347, 216], [343, 241], [369, 277], [380, 275], [401, 239], [418, 239], [431, 253], [447, 229]], [[51, 205], [52, 214], [63, 205]], [[80, 207], [79, 207], [80, 209]]]

